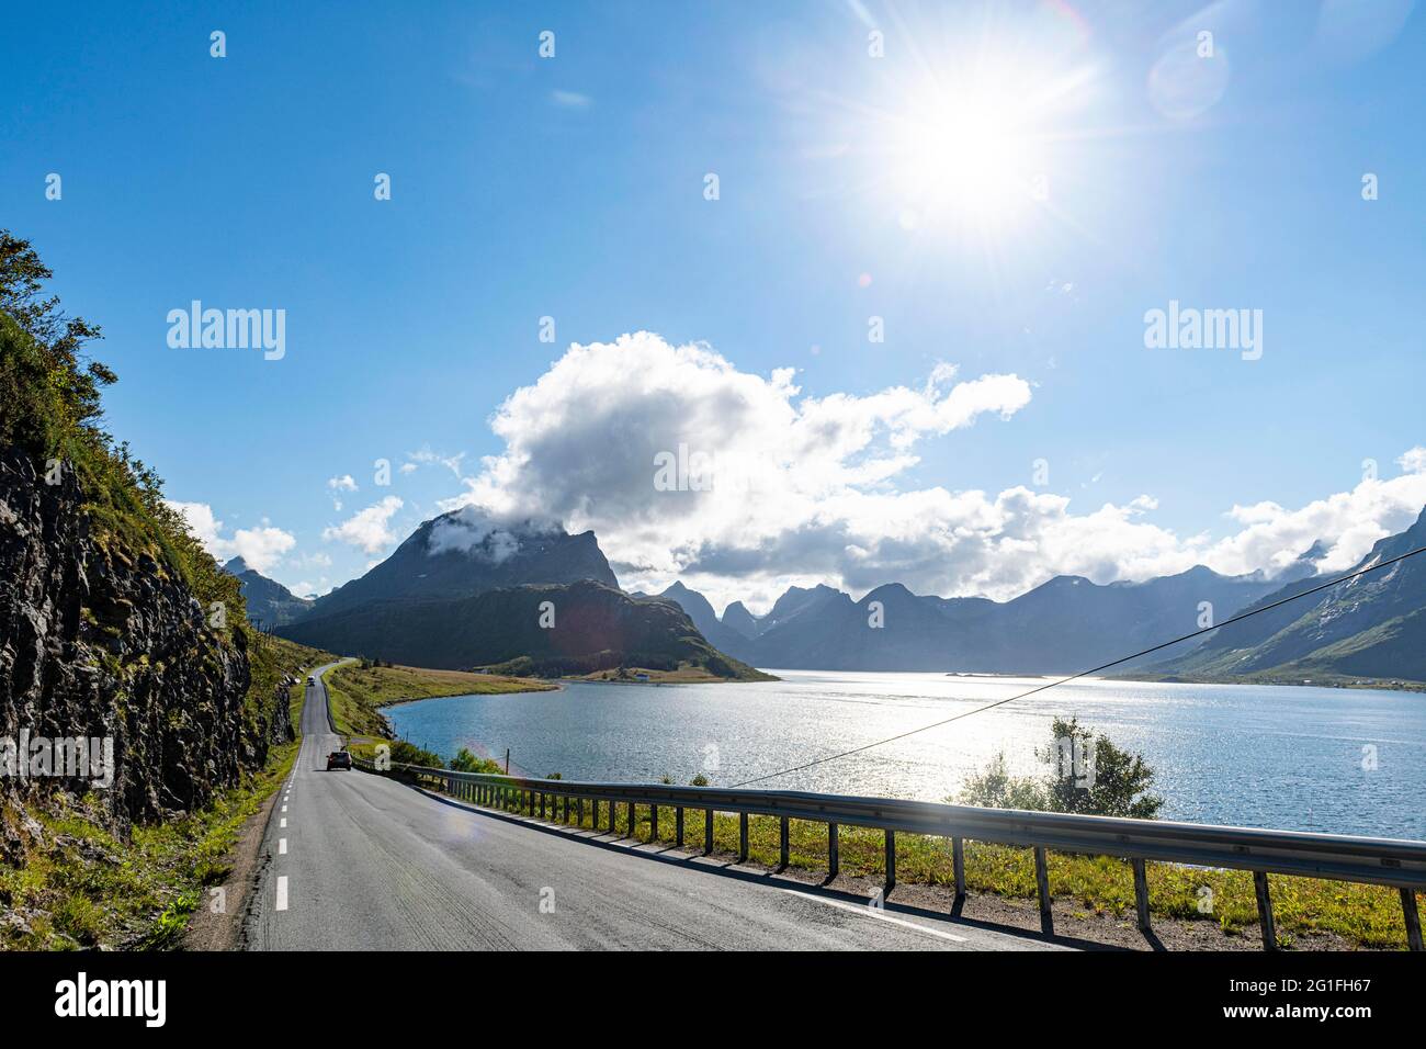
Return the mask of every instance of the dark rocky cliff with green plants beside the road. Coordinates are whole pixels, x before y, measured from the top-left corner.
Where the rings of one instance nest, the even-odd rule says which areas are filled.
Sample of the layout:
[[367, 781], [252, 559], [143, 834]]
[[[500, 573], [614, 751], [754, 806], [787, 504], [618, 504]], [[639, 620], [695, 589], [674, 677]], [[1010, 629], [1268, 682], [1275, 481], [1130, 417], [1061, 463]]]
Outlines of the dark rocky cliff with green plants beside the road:
[[[248, 705], [248, 675], [242, 634], [210, 625], [155, 545], [93, 527], [68, 470], [50, 485], [0, 450], [0, 748], [111, 736], [113, 785], [96, 796], [124, 829], [201, 805], [292, 738], [287, 704]], [[90, 786], [0, 769], [6, 802]]]

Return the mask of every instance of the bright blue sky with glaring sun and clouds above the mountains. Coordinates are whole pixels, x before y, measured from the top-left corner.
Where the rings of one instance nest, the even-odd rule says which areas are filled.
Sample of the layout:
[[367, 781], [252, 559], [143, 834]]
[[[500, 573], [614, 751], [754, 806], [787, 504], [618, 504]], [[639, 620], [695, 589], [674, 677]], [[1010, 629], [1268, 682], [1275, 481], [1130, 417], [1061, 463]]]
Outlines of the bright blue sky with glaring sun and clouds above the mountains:
[[[241, 548], [238, 529], [289, 537], [262, 549], [294, 587], [351, 578], [473, 497], [576, 508], [630, 587], [684, 575], [761, 604], [817, 578], [1005, 597], [1058, 571], [1246, 571], [1310, 537], [1349, 562], [1426, 501], [1410, 454], [1426, 442], [1426, 26], [1405, 0], [1363, 7], [31, 6], [0, 40], [3, 223], [104, 327], [111, 430], [173, 500], [222, 522], [218, 552]], [[210, 56], [212, 30], [227, 57]], [[1042, 200], [1007, 190], [1027, 171]], [[285, 310], [282, 360], [170, 348], [167, 313], [195, 298]], [[1171, 300], [1261, 310], [1261, 360], [1145, 348], [1145, 311]], [[662, 343], [630, 363], [669, 380], [617, 411], [623, 394], [583, 387], [579, 363], [552, 370], [570, 343], [637, 331]], [[722, 364], [669, 357], [689, 343]], [[894, 420], [866, 398], [923, 391], [938, 364], [954, 381], [1017, 377], [1030, 398], [887, 452]], [[740, 401], [759, 420], [844, 395], [860, 422], [837, 425], [874, 431], [830, 465], [787, 464], [817, 480], [796, 507], [766, 501], [784, 534], [727, 500], [666, 514], [642, 481], [653, 502], [605, 500], [609, 460], [649, 472], [643, 445], [622, 452], [639, 412], [665, 418], [655, 400], [692, 397], [723, 365], [764, 382], [796, 370], [796, 394]], [[492, 432], [542, 375], [546, 400]], [[613, 428], [572, 422], [575, 448], [532, 435], [559, 410]], [[655, 448], [699, 440], [659, 425]], [[742, 454], [786, 447], [752, 428], [770, 444]], [[463, 460], [402, 472], [422, 450]], [[903, 452], [876, 480], [838, 472]], [[481, 458], [502, 454], [506, 478], [482, 481]], [[389, 487], [372, 484], [378, 458]], [[344, 475], [356, 490], [334, 498]], [[803, 484], [789, 477], [773, 482]], [[1000, 498], [1017, 487], [1041, 504]], [[341, 531], [392, 498], [389, 542]], [[786, 569], [753, 549], [786, 551]]]

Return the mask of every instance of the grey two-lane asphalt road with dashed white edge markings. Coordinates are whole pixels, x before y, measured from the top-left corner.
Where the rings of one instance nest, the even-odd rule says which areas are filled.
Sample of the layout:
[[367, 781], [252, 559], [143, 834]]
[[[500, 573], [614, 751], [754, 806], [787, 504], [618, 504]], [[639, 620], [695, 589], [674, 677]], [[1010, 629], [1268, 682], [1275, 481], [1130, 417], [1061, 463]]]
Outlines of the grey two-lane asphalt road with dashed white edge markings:
[[1062, 949], [328, 772], [341, 738], [322, 671], [264, 836], [248, 949]]

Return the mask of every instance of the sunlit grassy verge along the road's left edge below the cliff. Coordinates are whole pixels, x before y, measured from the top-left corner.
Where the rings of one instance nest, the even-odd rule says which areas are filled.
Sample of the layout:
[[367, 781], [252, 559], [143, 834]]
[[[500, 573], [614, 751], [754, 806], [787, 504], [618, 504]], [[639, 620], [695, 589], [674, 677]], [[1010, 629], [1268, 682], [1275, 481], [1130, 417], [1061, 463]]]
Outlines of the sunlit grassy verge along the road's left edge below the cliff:
[[[270, 696], [285, 674], [301, 678], [329, 661], [328, 654], [291, 641], [254, 645], [250, 702]], [[301, 714], [301, 689], [295, 691]], [[0, 868], [0, 901], [29, 915], [30, 928], [0, 928], [0, 948], [177, 946], [188, 915], [210, 903], [205, 889], [227, 876], [225, 856], [242, 824], [282, 782], [297, 748], [295, 742], [274, 746], [264, 769], [201, 811], [135, 826], [128, 841], [103, 829], [84, 798], [31, 806], [24, 815], [44, 828], [46, 848], [19, 869]]]

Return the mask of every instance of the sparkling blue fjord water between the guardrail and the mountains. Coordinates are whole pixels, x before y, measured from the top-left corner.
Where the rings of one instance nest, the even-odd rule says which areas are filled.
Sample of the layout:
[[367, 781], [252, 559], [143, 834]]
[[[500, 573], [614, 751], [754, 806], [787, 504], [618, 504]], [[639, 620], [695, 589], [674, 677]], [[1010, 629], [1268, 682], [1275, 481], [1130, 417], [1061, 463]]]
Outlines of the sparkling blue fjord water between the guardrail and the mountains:
[[[466, 746], [511, 772], [714, 785], [800, 765], [1044, 684], [1041, 678], [774, 671], [737, 685], [566, 682], [558, 692], [425, 699], [398, 735]], [[1105, 731], [1158, 771], [1162, 816], [1426, 839], [1426, 695], [1375, 689], [1077, 681], [769, 788], [941, 801], [997, 751], [1034, 772], [1054, 716]], [[1375, 748], [1375, 768], [1372, 751]]]

